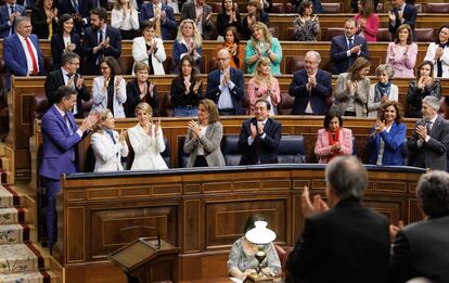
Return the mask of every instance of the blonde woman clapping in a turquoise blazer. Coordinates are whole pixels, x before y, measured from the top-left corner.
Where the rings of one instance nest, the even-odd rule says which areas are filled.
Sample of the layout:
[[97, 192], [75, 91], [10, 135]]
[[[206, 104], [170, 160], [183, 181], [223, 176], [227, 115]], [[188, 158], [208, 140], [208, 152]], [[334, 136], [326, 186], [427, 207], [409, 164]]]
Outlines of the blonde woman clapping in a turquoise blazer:
[[245, 65], [247, 73], [253, 74], [260, 57], [270, 60], [271, 75], [281, 75], [282, 48], [279, 40], [271, 36], [264, 23], [253, 25], [253, 36], [246, 43]]

